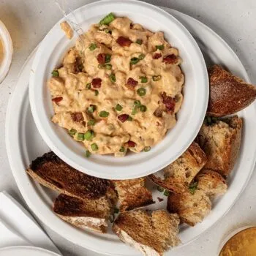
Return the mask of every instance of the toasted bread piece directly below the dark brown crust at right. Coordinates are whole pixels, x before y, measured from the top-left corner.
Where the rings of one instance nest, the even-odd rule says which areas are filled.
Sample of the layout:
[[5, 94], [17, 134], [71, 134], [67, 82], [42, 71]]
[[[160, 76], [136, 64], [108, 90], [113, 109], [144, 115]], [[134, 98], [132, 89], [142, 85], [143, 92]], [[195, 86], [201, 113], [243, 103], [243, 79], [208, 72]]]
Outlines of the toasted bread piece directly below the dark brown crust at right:
[[205, 168], [226, 177], [233, 169], [241, 144], [242, 119], [238, 116], [203, 124], [197, 142], [205, 151]]

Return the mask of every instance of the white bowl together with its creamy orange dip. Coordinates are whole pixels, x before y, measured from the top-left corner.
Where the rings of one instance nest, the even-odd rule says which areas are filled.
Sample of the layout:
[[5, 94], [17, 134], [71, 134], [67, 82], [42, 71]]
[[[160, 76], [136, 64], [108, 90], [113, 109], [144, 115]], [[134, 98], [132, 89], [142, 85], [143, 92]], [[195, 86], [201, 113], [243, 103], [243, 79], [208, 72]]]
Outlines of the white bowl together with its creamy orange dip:
[[99, 1], [75, 18], [83, 34], [61, 20], [34, 59], [29, 96], [42, 138], [91, 176], [162, 169], [192, 143], [206, 113], [208, 75], [195, 40], [140, 1]]

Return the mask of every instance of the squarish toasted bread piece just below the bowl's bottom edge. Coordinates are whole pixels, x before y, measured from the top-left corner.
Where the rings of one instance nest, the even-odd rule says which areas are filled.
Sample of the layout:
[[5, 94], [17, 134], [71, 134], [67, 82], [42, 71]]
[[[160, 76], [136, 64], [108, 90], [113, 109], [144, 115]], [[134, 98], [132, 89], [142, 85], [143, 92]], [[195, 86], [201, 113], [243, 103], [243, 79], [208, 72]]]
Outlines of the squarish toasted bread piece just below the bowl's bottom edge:
[[120, 211], [130, 211], [154, 203], [152, 192], [145, 187], [146, 177], [113, 182], [118, 193]]

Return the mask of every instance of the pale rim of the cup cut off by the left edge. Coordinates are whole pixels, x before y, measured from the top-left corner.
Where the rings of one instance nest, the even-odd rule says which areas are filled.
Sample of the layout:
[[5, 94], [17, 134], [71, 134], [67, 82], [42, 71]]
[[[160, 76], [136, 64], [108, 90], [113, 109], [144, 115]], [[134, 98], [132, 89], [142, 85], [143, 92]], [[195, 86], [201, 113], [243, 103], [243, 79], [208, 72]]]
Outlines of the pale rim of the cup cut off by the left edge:
[[4, 49], [4, 57], [0, 62], [0, 83], [6, 77], [12, 63], [12, 39], [4, 23], [0, 20], [0, 40]]

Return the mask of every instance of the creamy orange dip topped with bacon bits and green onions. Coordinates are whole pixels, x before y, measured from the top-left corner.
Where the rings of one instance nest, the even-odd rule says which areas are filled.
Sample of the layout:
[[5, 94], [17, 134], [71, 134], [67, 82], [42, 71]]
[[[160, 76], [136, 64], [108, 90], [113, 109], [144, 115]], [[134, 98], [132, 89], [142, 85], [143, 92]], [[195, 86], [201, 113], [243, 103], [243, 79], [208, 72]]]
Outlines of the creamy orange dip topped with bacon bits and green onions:
[[52, 121], [94, 154], [148, 151], [176, 124], [184, 75], [162, 32], [129, 18], [94, 24], [48, 82]]

